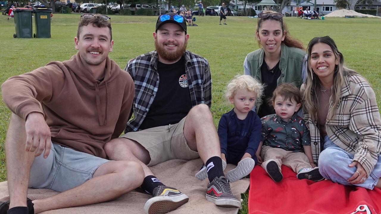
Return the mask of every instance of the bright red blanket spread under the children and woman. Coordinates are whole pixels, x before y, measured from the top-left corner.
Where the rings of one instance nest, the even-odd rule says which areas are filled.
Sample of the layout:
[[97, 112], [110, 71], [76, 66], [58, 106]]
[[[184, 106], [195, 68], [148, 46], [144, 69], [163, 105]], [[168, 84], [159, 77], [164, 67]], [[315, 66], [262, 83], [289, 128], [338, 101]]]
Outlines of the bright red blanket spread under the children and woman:
[[249, 214], [380, 214], [381, 190], [344, 186], [330, 180], [296, 178], [282, 166], [283, 180], [274, 182], [261, 166], [250, 173]]

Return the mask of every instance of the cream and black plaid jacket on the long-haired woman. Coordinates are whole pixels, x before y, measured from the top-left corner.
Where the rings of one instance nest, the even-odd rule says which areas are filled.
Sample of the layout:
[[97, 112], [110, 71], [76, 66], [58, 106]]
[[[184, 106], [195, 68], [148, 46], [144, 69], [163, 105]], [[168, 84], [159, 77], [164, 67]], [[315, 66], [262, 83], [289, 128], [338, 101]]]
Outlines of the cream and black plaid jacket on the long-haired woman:
[[[304, 85], [301, 91], [303, 89]], [[324, 142], [309, 114], [304, 115], [304, 120], [311, 134], [312, 157], [318, 163]], [[358, 161], [369, 176], [381, 152], [381, 118], [376, 95], [365, 78], [347, 77], [336, 114], [327, 120], [325, 128], [331, 141], [352, 153], [353, 160]]]

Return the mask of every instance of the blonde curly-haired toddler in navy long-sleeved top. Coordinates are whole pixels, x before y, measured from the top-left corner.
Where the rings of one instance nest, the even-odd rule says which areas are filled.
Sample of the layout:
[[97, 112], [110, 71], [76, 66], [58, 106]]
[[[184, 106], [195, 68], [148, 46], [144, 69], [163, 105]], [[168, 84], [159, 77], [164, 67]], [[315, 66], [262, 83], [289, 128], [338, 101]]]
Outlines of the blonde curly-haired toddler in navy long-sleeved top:
[[[257, 163], [255, 155], [261, 141], [261, 120], [252, 111], [261, 102], [263, 85], [250, 75], [236, 76], [227, 85], [226, 98], [234, 108], [222, 115], [218, 124], [223, 168], [226, 163], [237, 165], [227, 172], [227, 179], [235, 182], [247, 176]], [[203, 166], [196, 177], [203, 180], [208, 166]]]

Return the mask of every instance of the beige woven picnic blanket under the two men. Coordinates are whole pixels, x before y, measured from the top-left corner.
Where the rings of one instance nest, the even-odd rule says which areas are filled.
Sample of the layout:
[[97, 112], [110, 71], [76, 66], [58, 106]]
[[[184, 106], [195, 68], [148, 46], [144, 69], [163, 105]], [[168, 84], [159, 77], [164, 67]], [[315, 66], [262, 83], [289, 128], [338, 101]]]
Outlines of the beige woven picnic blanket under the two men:
[[[207, 201], [205, 193], [208, 185], [208, 179], [200, 181], [194, 177], [202, 165], [201, 159], [191, 161], [185, 160], [169, 160], [164, 163], [150, 167], [156, 177], [165, 185], [175, 187], [189, 197], [189, 202], [182, 205], [170, 214], [236, 214], [238, 208], [223, 208], [216, 206], [214, 203]], [[227, 164], [227, 171], [235, 166]], [[249, 179], [241, 179], [231, 183], [231, 189], [235, 197], [241, 199], [241, 193], [245, 192], [249, 187]], [[49, 189], [29, 189], [28, 197], [32, 200], [47, 198], [58, 192]], [[134, 190], [120, 196], [114, 201], [105, 203], [80, 206], [75, 208], [56, 209], [42, 212], [43, 214], [144, 214], [144, 203], [150, 198], [146, 193]], [[0, 201], [9, 200], [7, 182], [0, 182]]]

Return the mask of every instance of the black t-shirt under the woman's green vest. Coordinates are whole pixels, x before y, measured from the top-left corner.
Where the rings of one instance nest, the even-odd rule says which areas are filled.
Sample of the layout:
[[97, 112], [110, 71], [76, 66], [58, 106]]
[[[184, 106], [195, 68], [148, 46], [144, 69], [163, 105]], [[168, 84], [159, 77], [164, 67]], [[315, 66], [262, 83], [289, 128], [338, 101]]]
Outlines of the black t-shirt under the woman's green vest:
[[261, 74], [262, 74], [262, 83], [266, 84], [266, 86], [264, 88], [264, 93], [263, 93], [264, 94], [263, 104], [261, 105], [261, 107], [259, 108], [259, 111], [257, 112], [259, 117], [275, 114], [274, 107], [269, 106], [267, 100], [270, 97], [272, 97], [272, 93], [274, 92], [275, 88], [277, 88], [277, 81], [278, 81], [278, 78], [280, 77], [279, 62], [277, 63], [277, 65], [275, 65], [274, 68], [269, 69], [263, 57], [263, 63], [261, 66]]

